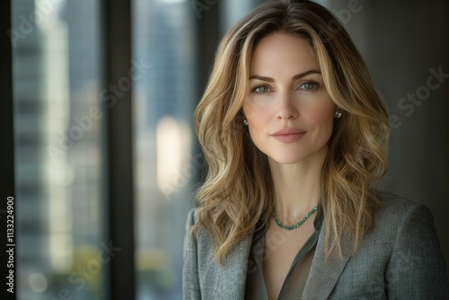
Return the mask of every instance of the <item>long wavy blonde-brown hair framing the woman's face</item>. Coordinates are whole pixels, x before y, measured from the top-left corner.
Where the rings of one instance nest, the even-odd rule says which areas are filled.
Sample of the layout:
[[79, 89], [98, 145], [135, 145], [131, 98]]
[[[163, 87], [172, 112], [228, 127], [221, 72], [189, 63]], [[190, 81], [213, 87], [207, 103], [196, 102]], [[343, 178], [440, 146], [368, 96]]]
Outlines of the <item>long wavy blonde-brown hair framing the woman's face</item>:
[[207, 89], [195, 111], [207, 176], [198, 189], [198, 222], [223, 262], [234, 244], [268, 222], [274, 191], [266, 154], [243, 126], [251, 53], [271, 33], [295, 34], [313, 47], [324, 84], [343, 115], [336, 119], [321, 168], [321, 213], [326, 253], [341, 250], [340, 237], [357, 244], [373, 225], [380, 200], [373, 192], [387, 169], [388, 115], [363, 58], [340, 22], [320, 4], [278, 0], [262, 4], [225, 34]]

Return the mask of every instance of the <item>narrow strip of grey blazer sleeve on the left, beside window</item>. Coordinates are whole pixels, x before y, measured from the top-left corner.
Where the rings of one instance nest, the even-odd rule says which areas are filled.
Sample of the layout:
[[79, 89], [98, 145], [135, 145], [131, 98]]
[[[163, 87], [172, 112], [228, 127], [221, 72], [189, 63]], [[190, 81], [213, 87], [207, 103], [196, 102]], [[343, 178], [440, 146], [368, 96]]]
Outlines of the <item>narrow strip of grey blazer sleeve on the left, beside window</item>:
[[195, 224], [195, 211], [189, 211], [184, 238], [184, 265], [182, 268], [182, 298], [184, 300], [201, 299], [198, 280], [198, 251], [197, 239], [190, 233], [190, 228]]

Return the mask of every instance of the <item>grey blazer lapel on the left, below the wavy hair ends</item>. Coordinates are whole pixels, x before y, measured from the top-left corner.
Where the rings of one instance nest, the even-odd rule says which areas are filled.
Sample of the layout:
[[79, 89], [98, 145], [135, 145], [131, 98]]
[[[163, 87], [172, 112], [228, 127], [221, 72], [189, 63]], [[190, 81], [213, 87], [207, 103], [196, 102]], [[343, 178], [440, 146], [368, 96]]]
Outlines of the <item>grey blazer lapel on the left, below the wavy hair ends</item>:
[[221, 271], [216, 278], [219, 282], [214, 299], [244, 299], [251, 243], [252, 234], [245, 237], [242, 242], [237, 243], [229, 251], [225, 264], [220, 267]]

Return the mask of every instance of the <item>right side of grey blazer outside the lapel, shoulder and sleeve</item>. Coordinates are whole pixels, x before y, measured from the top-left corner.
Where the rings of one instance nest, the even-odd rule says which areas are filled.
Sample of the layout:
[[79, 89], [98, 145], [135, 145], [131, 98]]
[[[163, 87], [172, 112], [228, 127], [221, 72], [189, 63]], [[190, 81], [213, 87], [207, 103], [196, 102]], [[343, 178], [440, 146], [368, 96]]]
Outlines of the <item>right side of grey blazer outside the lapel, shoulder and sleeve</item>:
[[[340, 275], [334, 298], [447, 298], [445, 260], [429, 209], [389, 191], [374, 194], [382, 206]], [[363, 288], [348, 284], [354, 278]]]

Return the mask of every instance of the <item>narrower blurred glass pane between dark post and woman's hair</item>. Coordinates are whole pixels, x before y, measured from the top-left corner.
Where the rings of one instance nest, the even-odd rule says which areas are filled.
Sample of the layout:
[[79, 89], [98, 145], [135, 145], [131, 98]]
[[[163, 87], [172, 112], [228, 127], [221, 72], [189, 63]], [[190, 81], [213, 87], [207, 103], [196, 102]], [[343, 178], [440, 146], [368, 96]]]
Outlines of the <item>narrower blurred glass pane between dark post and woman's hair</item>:
[[137, 299], [180, 299], [182, 243], [199, 156], [191, 154], [196, 14], [189, 1], [134, 0]]

